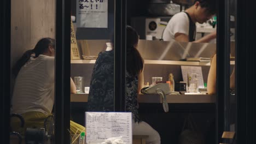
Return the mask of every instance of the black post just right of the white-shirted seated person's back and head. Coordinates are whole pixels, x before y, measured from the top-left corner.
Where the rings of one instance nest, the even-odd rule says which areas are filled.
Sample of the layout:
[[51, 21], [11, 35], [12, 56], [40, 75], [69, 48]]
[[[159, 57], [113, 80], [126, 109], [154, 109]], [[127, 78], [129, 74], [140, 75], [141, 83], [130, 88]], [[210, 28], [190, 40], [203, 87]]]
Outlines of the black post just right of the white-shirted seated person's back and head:
[[70, 143], [71, 1], [56, 0], [55, 16], [55, 143]]

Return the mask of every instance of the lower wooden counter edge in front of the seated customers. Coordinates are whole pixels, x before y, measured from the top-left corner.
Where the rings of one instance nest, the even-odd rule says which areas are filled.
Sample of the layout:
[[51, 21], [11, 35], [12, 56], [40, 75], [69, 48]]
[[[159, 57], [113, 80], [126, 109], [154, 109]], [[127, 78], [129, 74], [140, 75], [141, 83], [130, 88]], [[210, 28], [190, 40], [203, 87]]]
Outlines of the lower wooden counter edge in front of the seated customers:
[[[87, 102], [88, 94], [71, 94], [71, 102]], [[159, 94], [139, 94], [139, 103], [161, 103], [161, 97]], [[168, 94], [166, 95], [167, 103], [179, 104], [179, 103], [215, 103], [216, 95], [212, 94], [196, 94], [196, 95], [177, 95]]]

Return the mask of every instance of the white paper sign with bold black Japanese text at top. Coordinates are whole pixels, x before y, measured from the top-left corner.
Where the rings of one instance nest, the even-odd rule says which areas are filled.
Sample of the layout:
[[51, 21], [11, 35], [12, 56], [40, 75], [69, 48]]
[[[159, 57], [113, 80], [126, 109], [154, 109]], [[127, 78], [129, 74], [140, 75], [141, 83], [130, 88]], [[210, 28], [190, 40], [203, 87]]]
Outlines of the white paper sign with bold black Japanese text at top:
[[77, 27], [107, 28], [108, 0], [77, 0]]

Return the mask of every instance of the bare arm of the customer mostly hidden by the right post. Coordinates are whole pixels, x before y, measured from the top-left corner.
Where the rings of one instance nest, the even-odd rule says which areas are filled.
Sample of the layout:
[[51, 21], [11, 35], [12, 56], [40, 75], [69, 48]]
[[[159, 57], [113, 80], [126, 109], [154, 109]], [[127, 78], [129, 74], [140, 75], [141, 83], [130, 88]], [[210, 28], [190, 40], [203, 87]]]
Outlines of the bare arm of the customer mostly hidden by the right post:
[[217, 57], [216, 54], [212, 58], [210, 71], [208, 74], [208, 80], [207, 80], [207, 92], [208, 94], [214, 94], [216, 93], [216, 79], [217, 79]]

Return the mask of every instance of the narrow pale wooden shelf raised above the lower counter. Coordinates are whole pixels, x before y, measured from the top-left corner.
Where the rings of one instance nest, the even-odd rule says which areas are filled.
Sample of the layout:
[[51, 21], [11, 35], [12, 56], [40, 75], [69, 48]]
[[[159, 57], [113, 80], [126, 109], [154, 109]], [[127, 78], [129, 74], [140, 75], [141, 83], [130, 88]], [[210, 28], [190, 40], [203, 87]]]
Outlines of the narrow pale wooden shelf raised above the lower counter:
[[[78, 59], [71, 60], [72, 64], [94, 64], [96, 59]], [[161, 60], [144, 60], [145, 64], [170, 64], [170, 65], [211, 65], [210, 62], [196, 62], [196, 61], [161, 61]], [[231, 65], [235, 64], [235, 61], [230, 61]]]

